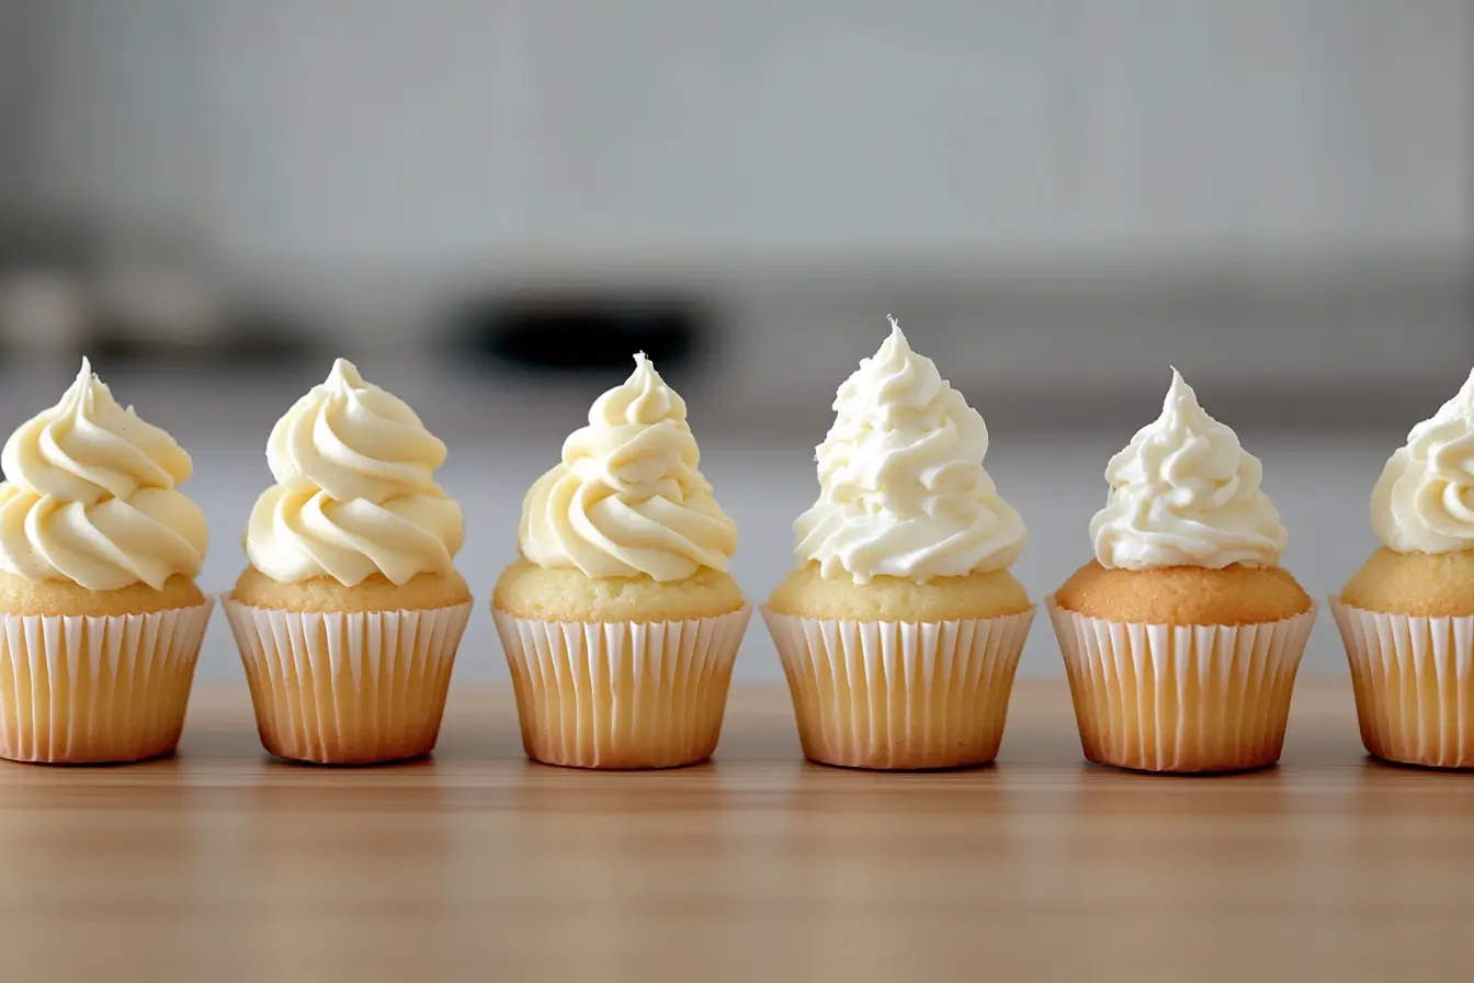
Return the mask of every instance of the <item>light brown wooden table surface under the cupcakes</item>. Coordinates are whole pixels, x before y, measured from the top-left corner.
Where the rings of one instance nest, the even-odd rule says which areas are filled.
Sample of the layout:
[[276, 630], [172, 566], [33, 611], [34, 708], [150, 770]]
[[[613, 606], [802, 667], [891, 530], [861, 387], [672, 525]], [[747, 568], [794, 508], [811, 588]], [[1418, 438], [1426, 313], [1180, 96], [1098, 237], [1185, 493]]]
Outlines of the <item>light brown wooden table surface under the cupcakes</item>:
[[1474, 775], [1361, 750], [1303, 679], [1279, 768], [1080, 759], [1020, 682], [995, 766], [799, 760], [737, 690], [718, 758], [528, 763], [510, 694], [453, 693], [433, 759], [268, 760], [243, 690], [180, 756], [0, 765], [0, 980], [1414, 980], [1474, 973]]

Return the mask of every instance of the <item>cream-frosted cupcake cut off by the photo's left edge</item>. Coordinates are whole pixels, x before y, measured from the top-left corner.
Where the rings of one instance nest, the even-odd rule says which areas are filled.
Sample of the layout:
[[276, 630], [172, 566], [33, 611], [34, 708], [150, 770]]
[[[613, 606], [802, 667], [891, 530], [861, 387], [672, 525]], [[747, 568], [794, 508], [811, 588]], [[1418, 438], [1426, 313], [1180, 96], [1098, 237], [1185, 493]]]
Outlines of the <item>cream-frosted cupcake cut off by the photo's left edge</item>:
[[0, 758], [128, 762], [178, 744], [211, 601], [189, 454], [87, 360], [0, 457]]

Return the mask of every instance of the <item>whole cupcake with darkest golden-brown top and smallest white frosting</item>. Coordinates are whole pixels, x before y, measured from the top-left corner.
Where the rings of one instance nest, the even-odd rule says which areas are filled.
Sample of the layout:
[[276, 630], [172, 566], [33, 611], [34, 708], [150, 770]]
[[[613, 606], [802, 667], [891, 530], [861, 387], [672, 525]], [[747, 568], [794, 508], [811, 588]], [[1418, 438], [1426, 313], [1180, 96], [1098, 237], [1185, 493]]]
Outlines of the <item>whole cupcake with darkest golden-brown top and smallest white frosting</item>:
[[1259, 460], [1172, 371], [1110, 460], [1095, 559], [1049, 598], [1085, 756], [1139, 771], [1272, 765], [1315, 604], [1279, 566]]

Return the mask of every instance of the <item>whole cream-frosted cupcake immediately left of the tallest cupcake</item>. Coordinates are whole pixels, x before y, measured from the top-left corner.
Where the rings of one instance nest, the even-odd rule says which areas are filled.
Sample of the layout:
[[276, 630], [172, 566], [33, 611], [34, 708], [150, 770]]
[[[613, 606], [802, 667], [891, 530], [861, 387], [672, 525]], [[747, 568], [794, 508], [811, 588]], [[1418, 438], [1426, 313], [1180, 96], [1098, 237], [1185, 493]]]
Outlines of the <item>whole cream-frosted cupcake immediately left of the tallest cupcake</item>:
[[528, 491], [492, 594], [528, 758], [672, 768], [716, 747], [750, 610], [685, 402], [643, 354]]

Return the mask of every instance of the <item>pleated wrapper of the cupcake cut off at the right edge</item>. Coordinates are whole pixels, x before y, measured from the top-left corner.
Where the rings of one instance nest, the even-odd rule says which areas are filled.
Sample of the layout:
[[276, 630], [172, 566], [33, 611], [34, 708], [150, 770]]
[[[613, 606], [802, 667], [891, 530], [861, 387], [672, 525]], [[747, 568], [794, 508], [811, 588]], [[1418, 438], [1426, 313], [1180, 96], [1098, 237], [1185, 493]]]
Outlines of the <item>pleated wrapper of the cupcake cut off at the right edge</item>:
[[1474, 768], [1474, 618], [1381, 615], [1331, 597], [1362, 744], [1377, 758]]

